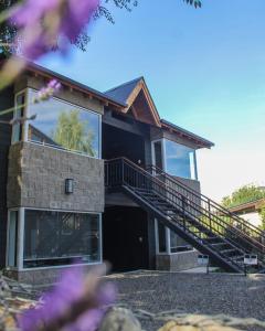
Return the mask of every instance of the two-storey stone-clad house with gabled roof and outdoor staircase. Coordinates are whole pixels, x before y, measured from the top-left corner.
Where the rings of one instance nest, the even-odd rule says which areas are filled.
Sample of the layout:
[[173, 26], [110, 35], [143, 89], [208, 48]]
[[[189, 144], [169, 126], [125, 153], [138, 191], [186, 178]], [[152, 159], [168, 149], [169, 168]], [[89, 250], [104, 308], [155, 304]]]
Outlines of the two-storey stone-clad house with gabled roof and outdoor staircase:
[[[34, 103], [52, 78], [62, 90]], [[219, 231], [241, 221], [218, 218], [220, 206], [200, 193], [197, 150], [213, 143], [162, 120], [144, 77], [100, 93], [29, 64], [0, 93], [0, 111], [11, 107], [0, 122], [7, 275], [51, 282], [73, 261], [89, 268], [103, 260], [115, 271], [179, 270], [197, 264], [193, 247], [242, 270], [241, 244]]]

